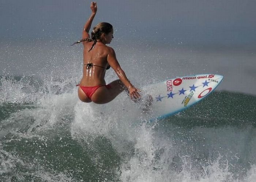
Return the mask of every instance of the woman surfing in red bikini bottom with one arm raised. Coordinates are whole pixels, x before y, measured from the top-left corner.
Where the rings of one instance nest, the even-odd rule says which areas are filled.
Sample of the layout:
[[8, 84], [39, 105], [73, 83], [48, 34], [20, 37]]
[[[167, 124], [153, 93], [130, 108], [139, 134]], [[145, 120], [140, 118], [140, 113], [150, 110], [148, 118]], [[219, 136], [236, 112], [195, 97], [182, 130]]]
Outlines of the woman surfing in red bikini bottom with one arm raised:
[[[135, 88], [127, 79], [123, 69], [117, 61], [112, 48], [106, 46], [113, 39], [113, 27], [106, 22], [98, 23], [91, 32], [89, 31], [97, 12], [96, 2], [91, 3], [92, 14], [84, 25], [82, 39], [75, 43], [83, 43], [83, 77], [78, 85], [78, 97], [83, 102], [104, 104], [112, 101], [126, 88], [131, 99], [139, 99], [139, 89]], [[74, 43], [74, 44], [75, 44]], [[73, 45], [74, 45], [73, 44]], [[113, 68], [119, 77], [108, 85], [105, 81], [105, 73]]]

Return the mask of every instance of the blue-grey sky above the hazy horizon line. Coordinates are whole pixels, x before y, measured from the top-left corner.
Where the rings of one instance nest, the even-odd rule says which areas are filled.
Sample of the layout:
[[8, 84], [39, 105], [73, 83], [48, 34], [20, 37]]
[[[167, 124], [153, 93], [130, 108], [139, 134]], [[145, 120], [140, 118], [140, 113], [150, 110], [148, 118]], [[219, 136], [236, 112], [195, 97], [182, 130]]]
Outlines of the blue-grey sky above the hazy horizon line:
[[[87, 0], [0, 0], [0, 41], [80, 38]], [[99, 0], [93, 26], [112, 23], [123, 41], [256, 44], [255, 0]]]

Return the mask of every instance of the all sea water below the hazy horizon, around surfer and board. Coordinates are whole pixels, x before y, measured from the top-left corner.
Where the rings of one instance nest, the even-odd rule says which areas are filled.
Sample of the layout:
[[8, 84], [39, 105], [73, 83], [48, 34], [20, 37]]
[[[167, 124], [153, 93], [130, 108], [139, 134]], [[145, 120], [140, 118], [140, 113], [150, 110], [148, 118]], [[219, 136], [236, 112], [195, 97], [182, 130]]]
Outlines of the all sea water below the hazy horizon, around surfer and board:
[[[133, 114], [139, 108], [125, 93], [105, 105], [79, 101], [81, 46], [30, 42], [1, 42], [0, 181], [255, 181], [252, 50], [114, 44], [138, 88], [175, 76], [224, 76], [202, 102], [148, 122]], [[114, 79], [107, 71], [106, 81]]]

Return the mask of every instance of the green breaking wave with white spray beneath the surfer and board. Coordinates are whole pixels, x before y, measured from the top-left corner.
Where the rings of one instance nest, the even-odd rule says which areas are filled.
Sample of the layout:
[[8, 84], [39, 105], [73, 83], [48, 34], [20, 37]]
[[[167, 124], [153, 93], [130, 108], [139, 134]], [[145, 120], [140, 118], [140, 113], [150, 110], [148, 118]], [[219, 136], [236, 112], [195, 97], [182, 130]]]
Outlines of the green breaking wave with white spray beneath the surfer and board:
[[256, 178], [255, 96], [214, 92], [149, 123], [125, 94], [80, 102], [76, 80], [1, 77], [0, 181]]

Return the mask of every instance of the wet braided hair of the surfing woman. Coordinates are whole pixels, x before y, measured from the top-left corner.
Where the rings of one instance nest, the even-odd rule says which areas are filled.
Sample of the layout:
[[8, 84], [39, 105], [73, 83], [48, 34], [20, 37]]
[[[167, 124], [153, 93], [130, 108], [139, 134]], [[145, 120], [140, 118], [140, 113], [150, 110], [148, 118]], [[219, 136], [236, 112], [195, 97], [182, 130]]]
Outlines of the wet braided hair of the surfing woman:
[[[80, 41], [77, 41], [77, 42], [73, 43], [72, 45], [74, 45], [76, 43], [84, 42], [84, 41], [87, 41], [87, 42], [93, 41], [93, 45], [91, 46], [91, 49], [90, 49], [90, 50], [92, 50], [94, 48], [95, 44], [97, 43], [97, 39], [99, 39], [99, 40], [101, 39], [101, 34], [103, 34], [103, 33], [108, 34], [112, 31], [112, 29], [113, 29], [113, 26], [110, 23], [107, 23], [107, 22], [98, 23], [93, 28], [93, 31], [91, 32], [91, 38], [81, 39]], [[90, 52], [90, 50], [88, 52]]]

